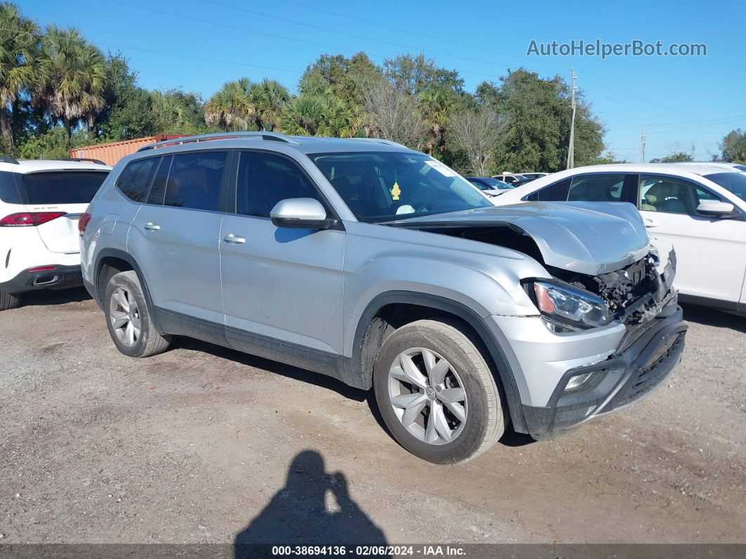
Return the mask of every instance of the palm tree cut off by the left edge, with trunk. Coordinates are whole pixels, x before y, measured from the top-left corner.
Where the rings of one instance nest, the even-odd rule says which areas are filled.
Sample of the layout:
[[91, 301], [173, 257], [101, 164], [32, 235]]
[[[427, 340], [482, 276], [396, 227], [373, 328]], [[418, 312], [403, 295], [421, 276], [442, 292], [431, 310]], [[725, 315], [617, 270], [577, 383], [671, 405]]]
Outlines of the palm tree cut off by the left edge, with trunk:
[[24, 91], [36, 86], [39, 74], [34, 65], [39, 48], [39, 28], [23, 17], [16, 4], [0, 4], [0, 129], [5, 147], [13, 151], [10, 128], [13, 107]]

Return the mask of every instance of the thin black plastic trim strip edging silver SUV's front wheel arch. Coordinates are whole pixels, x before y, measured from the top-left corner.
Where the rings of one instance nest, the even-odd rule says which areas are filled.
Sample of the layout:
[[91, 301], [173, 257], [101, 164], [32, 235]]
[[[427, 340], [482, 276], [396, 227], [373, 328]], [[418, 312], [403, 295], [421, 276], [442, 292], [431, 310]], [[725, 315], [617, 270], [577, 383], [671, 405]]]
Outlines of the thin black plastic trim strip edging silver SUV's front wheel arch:
[[419, 305], [434, 310], [442, 310], [444, 313], [457, 316], [471, 326], [486, 347], [489, 353], [488, 357], [492, 360], [493, 371], [498, 375], [499, 381], [502, 384], [504, 395], [507, 399], [508, 410], [510, 411], [510, 419], [513, 421], [513, 428], [519, 433], [527, 432], [526, 421], [523, 416], [523, 406], [521, 405], [521, 395], [518, 392], [518, 384], [515, 382], [515, 372], [513, 371], [513, 367], [510, 366], [504, 349], [498, 343], [498, 340], [495, 340], [484, 319], [477, 312], [460, 302], [445, 299], [445, 297], [413, 291], [387, 291], [378, 294], [369, 302], [366, 310], [363, 310], [363, 313], [360, 315], [360, 320], [357, 322], [355, 328], [351, 359], [352, 363], [356, 363], [360, 367], [360, 375], [367, 377], [361, 379], [363, 384], [370, 386], [372, 383], [372, 378], [370, 378], [372, 373], [363, 371], [362, 366], [363, 341], [366, 331], [378, 311], [386, 305], [396, 303]]

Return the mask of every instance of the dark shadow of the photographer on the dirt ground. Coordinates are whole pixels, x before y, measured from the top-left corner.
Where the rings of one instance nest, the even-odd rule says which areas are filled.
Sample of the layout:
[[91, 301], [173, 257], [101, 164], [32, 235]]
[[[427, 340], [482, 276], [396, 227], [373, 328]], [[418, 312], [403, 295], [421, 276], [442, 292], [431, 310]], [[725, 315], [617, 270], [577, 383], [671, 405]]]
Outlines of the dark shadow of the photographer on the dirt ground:
[[[336, 509], [327, 510], [327, 493]], [[324, 458], [306, 450], [293, 458], [285, 487], [236, 535], [236, 558], [253, 557], [257, 546], [385, 545], [386, 537], [351, 499], [342, 472], [325, 471]]]

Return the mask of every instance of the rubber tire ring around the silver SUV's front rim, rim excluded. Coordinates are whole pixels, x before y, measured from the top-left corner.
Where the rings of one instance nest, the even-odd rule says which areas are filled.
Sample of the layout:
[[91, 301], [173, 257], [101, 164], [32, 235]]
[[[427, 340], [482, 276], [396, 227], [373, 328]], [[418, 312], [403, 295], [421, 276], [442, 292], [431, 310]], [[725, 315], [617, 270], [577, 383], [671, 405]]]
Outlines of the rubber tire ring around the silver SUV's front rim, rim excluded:
[[[426, 331], [426, 329], [426, 327], [419, 327], [417, 330], [394, 332], [383, 343], [376, 357], [373, 374], [376, 402], [386, 426], [397, 442], [404, 446], [404, 449], [433, 463], [462, 462], [468, 460], [480, 449], [486, 436], [485, 431], [489, 422], [489, 396], [486, 390], [489, 390], [489, 387], [484, 387], [479, 380], [479, 376], [474, 373], [474, 367], [478, 366], [477, 363], [471, 363], [471, 359], [454, 340], [443, 335], [440, 331], [434, 329], [427, 329]], [[427, 340], [426, 337], [430, 337], [430, 340]], [[461, 381], [463, 381], [464, 390], [466, 390], [468, 416], [463, 431], [451, 443], [432, 445], [417, 439], [404, 428], [392, 408], [388, 388], [389, 368], [401, 352], [416, 347], [430, 349], [445, 357], [454, 366]], [[483, 366], [486, 366], [486, 364]], [[497, 393], [497, 390], [495, 390], [495, 393]], [[498, 410], [498, 413], [501, 413], [500, 410]]]

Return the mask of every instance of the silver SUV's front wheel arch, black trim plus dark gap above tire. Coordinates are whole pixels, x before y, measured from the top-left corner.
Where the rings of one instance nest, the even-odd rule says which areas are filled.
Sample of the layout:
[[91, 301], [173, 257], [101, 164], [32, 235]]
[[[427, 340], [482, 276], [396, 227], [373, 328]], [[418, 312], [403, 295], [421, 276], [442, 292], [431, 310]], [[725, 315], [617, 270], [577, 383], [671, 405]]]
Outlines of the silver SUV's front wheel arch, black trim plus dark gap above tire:
[[[460, 302], [428, 293], [390, 291], [376, 296], [363, 311], [354, 334], [352, 361], [363, 386], [372, 386], [377, 352], [386, 337], [410, 322], [440, 319], [458, 328], [483, 353], [510, 412], [516, 431], [525, 426], [515, 373], [484, 320]], [[522, 432], [522, 431], [521, 431]]]

